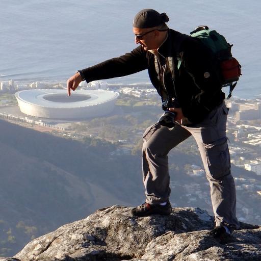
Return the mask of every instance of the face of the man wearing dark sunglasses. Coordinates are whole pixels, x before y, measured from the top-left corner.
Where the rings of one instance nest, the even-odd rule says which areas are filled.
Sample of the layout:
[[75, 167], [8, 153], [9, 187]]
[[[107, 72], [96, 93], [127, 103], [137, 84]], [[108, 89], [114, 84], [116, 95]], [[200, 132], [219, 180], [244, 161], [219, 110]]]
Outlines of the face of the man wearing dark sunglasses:
[[145, 51], [157, 49], [159, 46], [156, 44], [156, 37], [158, 31], [152, 30], [151, 28], [133, 28], [135, 34], [135, 43], [140, 44]]

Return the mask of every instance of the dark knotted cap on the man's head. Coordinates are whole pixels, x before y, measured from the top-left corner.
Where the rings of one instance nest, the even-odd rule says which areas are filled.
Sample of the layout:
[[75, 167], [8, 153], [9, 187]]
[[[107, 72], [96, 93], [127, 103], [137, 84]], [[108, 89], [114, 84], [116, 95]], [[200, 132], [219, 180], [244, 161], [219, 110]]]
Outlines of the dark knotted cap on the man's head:
[[166, 13], [158, 13], [153, 9], [143, 9], [135, 15], [133, 19], [133, 27], [135, 28], [151, 28], [157, 27], [169, 21]]

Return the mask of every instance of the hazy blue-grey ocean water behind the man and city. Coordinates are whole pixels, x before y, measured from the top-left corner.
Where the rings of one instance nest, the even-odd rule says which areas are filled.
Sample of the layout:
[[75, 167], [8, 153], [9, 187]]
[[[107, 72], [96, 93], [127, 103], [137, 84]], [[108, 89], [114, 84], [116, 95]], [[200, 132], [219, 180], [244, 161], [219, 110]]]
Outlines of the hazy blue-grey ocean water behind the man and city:
[[[261, 94], [258, 0], [1, 0], [0, 81], [64, 80], [77, 69], [131, 51], [136, 47], [132, 19], [143, 8], [166, 12], [169, 27], [182, 33], [207, 24], [225, 35], [242, 64], [233, 95]], [[149, 79], [144, 71], [108, 82]]]

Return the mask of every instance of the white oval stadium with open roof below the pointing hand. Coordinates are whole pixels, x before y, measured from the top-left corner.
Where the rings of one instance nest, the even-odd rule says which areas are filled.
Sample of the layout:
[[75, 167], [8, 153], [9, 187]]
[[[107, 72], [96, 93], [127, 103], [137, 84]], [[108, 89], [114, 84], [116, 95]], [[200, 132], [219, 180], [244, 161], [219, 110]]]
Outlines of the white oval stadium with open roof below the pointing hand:
[[24, 114], [52, 119], [86, 119], [110, 114], [119, 94], [104, 90], [34, 89], [15, 93]]

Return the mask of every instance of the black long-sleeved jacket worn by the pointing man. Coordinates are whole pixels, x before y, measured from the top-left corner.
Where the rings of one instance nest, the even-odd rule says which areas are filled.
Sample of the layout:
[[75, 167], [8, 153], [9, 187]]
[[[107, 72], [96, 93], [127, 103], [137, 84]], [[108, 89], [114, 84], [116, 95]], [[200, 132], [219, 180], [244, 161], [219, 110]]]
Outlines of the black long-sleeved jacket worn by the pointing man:
[[[167, 93], [171, 97], [176, 97], [184, 116], [189, 121], [192, 123], [202, 121], [225, 98], [211, 53], [198, 39], [174, 30], [169, 30], [168, 37], [158, 52], [163, 57], [174, 59], [173, 73], [166, 63], [164, 86], [159, 81], [155, 69], [154, 55], [145, 51], [142, 46], [135, 48], [131, 53], [83, 69], [83, 73], [89, 83], [148, 69], [150, 81], [162, 100], [166, 99]], [[179, 54], [181, 65], [178, 69]], [[166, 59], [163, 60], [166, 62]]]

